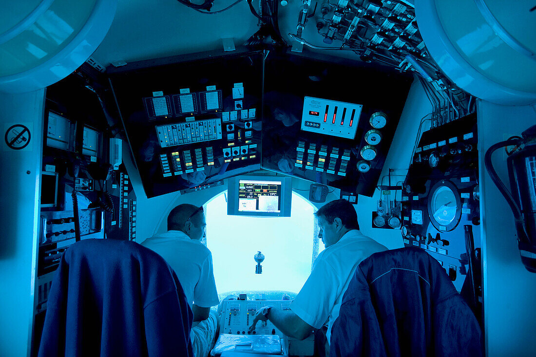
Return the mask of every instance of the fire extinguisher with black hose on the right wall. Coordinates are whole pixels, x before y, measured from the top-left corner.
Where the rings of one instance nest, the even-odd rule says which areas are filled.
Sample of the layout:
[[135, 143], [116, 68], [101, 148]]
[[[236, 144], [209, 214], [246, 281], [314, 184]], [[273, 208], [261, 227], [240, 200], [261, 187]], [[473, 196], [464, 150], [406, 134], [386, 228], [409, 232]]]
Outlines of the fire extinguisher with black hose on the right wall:
[[[510, 192], [495, 172], [492, 154], [498, 148], [511, 145], [515, 145], [516, 150], [507, 159]], [[484, 163], [513, 212], [521, 261], [528, 271], [536, 273], [536, 125], [525, 130], [522, 138], [492, 145]]]

